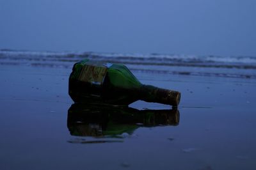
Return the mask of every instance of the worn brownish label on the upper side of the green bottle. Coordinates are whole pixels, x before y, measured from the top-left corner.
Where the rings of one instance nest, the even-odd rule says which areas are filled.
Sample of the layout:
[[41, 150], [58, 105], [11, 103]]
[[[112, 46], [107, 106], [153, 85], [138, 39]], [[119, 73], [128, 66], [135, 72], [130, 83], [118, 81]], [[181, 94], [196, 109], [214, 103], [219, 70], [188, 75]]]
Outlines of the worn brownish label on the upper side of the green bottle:
[[90, 82], [91, 84], [101, 86], [106, 76], [108, 66], [95, 65], [95, 63], [92, 65], [89, 62], [83, 66], [79, 81]]

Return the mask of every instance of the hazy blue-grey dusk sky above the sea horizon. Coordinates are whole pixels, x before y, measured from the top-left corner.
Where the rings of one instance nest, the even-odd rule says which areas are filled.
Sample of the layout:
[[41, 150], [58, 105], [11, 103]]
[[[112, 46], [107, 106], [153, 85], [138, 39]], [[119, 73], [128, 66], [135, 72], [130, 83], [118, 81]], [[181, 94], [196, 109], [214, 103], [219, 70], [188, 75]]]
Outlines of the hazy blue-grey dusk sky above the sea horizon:
[[256, 1], [0, 0], [0, 49], [256, 56]]

